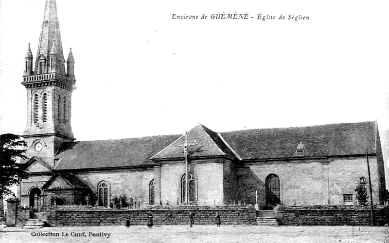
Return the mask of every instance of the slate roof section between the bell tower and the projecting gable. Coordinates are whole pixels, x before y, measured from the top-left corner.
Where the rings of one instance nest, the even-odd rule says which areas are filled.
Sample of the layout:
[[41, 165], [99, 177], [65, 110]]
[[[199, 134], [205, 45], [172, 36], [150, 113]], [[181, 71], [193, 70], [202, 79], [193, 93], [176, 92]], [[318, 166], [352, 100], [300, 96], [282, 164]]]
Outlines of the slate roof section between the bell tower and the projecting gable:
[[181, 135], [83, 141], [65, 144], [58, 151], [55, 169], [111, 168], [153, 165], [149, 158]]

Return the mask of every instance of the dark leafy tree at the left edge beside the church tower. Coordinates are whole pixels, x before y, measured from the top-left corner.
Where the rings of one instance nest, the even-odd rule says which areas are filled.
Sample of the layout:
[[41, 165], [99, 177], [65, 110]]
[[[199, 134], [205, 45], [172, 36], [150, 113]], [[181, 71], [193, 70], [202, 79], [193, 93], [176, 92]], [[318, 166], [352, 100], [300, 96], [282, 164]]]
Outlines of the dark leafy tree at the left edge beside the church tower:
[[27, 165], [19, 163], [26, 159], [26, 142], [18, 135], [6, 133], [0, 135], [0, 197], [14, 195], [9, 187], [27, 179]]

